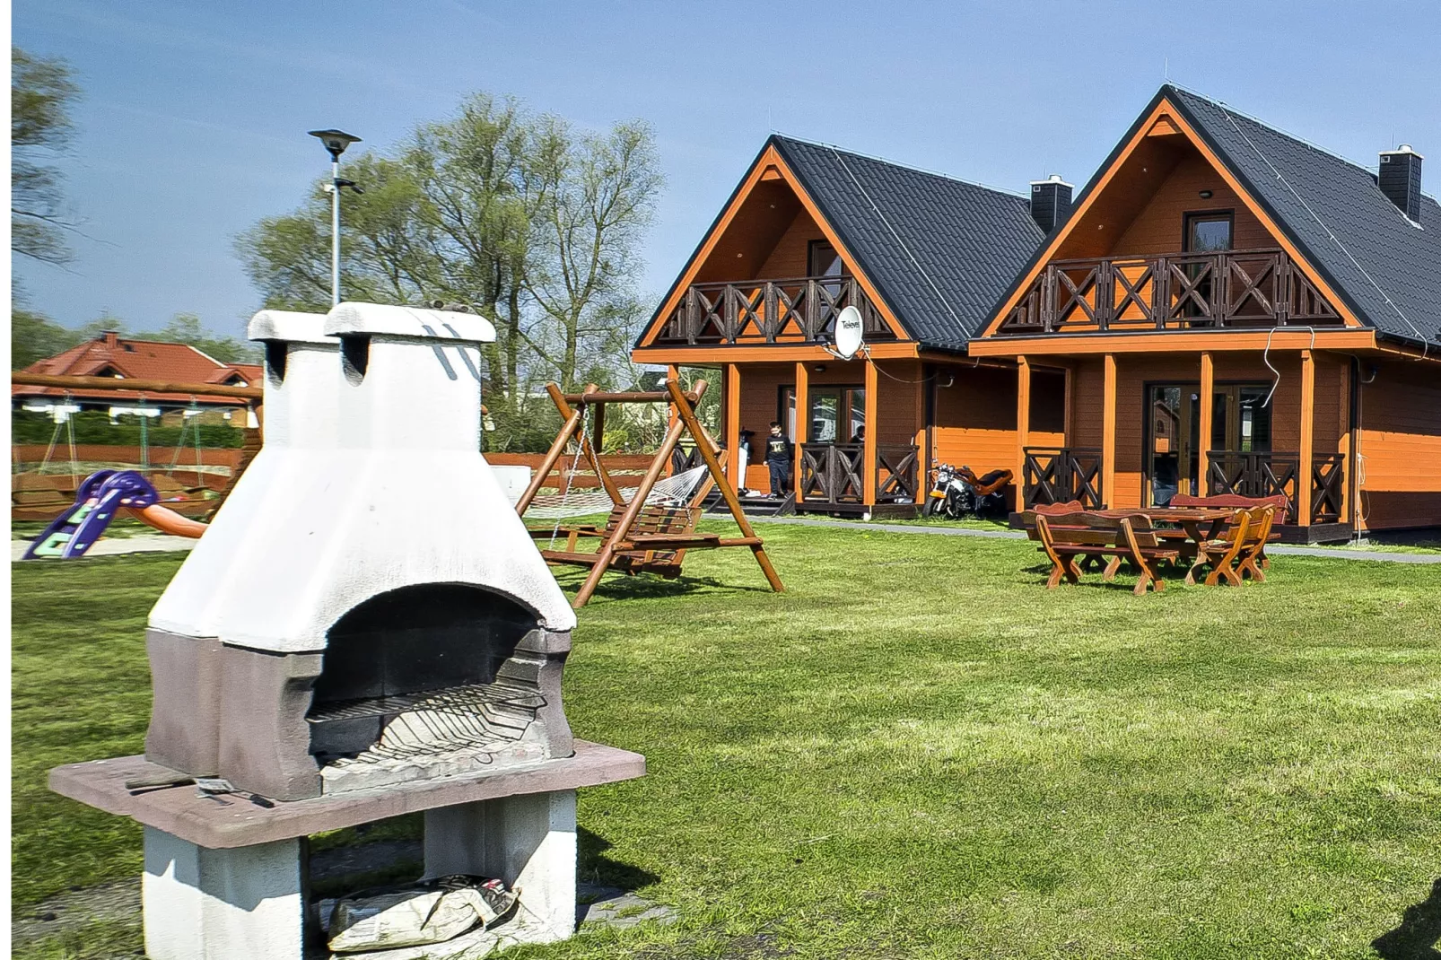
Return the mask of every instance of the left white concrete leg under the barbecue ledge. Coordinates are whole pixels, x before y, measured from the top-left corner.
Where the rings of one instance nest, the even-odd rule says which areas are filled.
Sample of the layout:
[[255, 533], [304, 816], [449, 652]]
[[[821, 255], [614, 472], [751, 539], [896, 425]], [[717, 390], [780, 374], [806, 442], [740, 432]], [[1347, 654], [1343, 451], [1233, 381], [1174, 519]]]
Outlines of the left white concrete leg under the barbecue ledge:
[[150, 960], [300, 960], [305, 842], [208, 850], [146, 827], [140, 902]]

